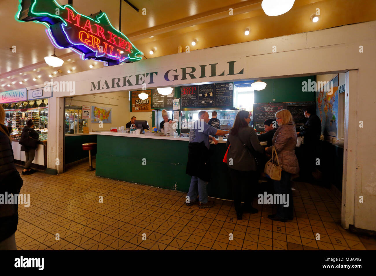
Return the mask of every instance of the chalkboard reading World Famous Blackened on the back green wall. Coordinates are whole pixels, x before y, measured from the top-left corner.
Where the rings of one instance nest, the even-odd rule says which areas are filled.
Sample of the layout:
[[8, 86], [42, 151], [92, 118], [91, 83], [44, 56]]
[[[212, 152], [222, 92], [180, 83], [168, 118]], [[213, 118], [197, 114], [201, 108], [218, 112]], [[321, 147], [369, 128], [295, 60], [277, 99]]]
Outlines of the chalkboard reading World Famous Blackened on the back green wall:
[[275, 119], [276, 112], [282, 109], [282, 103], [253, 104], [253, 128], [256, 128], [256, 131], [264, 131], [264, 122], [267, 119]]

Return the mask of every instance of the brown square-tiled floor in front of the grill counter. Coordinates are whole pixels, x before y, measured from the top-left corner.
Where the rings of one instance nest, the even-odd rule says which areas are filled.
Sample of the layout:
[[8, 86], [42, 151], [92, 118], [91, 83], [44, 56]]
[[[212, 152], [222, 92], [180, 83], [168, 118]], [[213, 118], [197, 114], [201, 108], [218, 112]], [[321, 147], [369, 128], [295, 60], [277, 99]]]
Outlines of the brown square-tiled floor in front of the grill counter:
[[22, 176], [21, 193], [30, 193], [30, 207], [19, 207], [19, 249], [376, 249], [375, 239], [340, 226], [340, 201], [321, 187], [294, 184], [292, 221], [272, 221], [267, 218], [270, 205], [256, 204], [258, 214], [237, 220], [231, 201], [217, 199], [209, 209], [186, 207], [185, 193], [99, 178], [87, 167], [83, 163], [61, 175]]

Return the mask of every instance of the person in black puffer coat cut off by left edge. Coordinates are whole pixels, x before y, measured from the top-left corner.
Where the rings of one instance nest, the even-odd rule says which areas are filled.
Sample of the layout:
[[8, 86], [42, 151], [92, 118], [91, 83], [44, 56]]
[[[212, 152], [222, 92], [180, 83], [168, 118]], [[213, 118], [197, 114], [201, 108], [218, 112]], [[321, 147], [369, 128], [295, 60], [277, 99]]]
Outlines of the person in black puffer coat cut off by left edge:
[[[0, 106], [0, 195], [19, 194], [23, 180], [14, 164], [12, 142], [4, 125], [5, 111]], [[7, 200], [7, 199], [6, 199]], [[8, 203], [8, 202], [7, 202]], [[17, 250], [15, 232], [18, 224], [18, 201], [0, 202], [0, 250]]]

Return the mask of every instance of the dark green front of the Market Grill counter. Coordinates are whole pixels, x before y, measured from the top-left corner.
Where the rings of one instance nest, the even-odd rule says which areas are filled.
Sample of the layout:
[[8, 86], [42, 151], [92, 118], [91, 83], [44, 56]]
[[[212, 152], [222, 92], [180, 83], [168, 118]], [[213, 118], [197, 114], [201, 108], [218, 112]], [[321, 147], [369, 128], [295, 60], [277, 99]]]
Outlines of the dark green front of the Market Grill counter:
[[[97, 176], [188, 192], [191, 176], [185, 173], [188, 160], [187, 138], [168, 140], [141, 138], [132, 134], [92, 134], [99, 134]], [[227, 165], [223, 163], [226, 150], [226, 143], [210, 145], [212, 180], [207, 190], [211, 197], [232, 198]]]

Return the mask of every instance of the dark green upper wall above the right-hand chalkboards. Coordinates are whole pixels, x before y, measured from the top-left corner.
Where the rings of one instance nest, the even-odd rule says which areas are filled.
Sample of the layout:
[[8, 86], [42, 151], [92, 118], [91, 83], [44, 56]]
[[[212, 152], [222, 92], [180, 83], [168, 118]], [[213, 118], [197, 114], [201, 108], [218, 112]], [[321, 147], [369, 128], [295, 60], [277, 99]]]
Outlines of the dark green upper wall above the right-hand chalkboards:
[[255, 103], [316, 101], [316, 92], [302, 91], [302, 82], [308, 83], [308, 79], [311, 79], [311, 82], [316, 81], [316, 76], [262, 80], [266, 83], [266, 87], [264, 90], [255, 90], [254, 101]]

